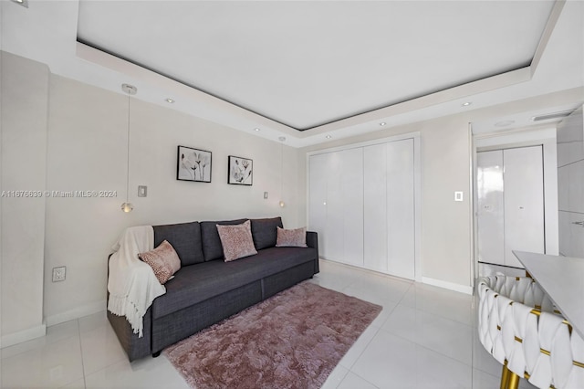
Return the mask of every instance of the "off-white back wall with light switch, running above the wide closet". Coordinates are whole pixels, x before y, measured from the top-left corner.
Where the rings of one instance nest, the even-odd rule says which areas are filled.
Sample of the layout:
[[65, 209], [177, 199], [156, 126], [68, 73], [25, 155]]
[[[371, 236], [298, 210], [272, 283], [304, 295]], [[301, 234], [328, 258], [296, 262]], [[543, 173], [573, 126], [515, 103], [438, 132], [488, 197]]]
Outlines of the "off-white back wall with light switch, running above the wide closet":
[[[474, 218], [471, 201], [473, 140], [469, 123], [505, 117], [517, 112], [546, 111], [549, 107], [571, 104], [581, 100], [582, 90], [582, 88], [578, 88], [571, 89], [568, 93], [549, 93], [479, 110], [463, 109], [464, 111], [456, 115], [395, 126], [306, 147], [302, 149], [305, 156], [299, 162], [302, 164], [301, 171], [305, 173], [302, 182], [305, 186], [304, 191], [306, 192], [307, 152], [420, 131], [422, 142], [422, 281], [470, 292], [474, 282]], [[550, 152], [547, 152], [546, 157], [553, 159]], [[547, 184], [554, 185], [553, 180]], [[546, 186], [546, 190], [548, 190], [548, 186]], [[454, 191], [464, 193], [463, 202], [454, 202]], [[552, 190], [549, 189], [549, 191], [550, 195], [547, 198], [553, 202]], [[553, 215], [549, 217], [553, 217]], [[550, 223], [550, 226], [553, 226], [553, 222]], [[550, 249], [553, 249], [553, 244], [550, 244]]]

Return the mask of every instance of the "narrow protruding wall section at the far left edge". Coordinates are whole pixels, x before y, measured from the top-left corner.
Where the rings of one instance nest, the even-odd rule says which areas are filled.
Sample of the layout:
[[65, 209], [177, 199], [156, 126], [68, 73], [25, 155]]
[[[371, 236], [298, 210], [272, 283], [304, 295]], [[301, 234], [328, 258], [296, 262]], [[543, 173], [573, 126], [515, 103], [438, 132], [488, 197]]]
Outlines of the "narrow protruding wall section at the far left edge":
[[2, 52], [1, 73], [1, 326], [7, 346], [45, 334], [45, 198], [15, 197], [11, 191], [45, 189], [49, 72], [43, 64]]

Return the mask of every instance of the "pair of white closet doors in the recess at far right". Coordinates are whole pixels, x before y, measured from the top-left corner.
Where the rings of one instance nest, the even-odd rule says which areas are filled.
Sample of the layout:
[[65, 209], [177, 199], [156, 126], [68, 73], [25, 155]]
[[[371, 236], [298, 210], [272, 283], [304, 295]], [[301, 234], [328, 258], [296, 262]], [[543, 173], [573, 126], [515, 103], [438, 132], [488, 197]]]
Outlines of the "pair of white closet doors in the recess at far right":
[[523, 268], [513, 250], [545, 253], [541, 146], [477, 152], [479, 261]]

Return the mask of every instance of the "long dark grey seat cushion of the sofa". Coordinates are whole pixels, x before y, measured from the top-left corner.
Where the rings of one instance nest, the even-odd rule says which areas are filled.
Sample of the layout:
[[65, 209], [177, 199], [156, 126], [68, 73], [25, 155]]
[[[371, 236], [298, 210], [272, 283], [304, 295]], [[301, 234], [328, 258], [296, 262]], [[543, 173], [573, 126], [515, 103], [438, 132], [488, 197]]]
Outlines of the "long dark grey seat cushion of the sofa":
[[314, 261], [315, 248], [271, 247], [233, 262], [210, 261], [181, 268], [164, 286], [166, 293], [152, 303], [152, 317], [161, 318], [203, 300]]

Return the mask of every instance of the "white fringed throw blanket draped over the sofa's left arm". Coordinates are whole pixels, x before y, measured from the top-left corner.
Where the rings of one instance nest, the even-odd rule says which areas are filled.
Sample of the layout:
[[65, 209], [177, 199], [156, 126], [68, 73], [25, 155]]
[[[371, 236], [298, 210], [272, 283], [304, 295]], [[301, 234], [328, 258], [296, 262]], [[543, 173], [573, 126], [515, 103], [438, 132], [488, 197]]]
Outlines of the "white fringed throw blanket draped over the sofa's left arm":
[[134, 333], [142, 337], [142, 318], [158, 296], [166, 293], [154, 276], [152, 268], [138, 258], [139, 253], [154, 248], [152, 226], [133, 226], [126, 231], [113, 247], [110, 258], [108, 310], [125, 316]]

